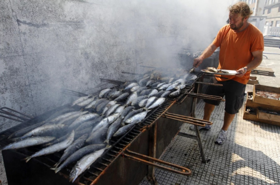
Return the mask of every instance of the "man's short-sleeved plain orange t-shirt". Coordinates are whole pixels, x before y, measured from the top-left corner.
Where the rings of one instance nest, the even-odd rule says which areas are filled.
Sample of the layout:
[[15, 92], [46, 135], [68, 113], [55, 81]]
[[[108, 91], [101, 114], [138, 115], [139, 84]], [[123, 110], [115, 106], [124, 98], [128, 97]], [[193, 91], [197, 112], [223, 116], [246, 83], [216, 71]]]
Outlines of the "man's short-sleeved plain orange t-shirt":
[[[235, 33], [230, 25], [223, 26], [212, 42], [220, 47], [219, 66], [217, 69], [239, 70], [253, 60], [252, 52], [264, 51], [264, 36], [257, 27], [249, 23], [249, 26], [242, 32]], [[251, 71], [244, 76], [224, 75], [228, 79], [216, 77], [218, 81], [235, 80], [247, 84]]]

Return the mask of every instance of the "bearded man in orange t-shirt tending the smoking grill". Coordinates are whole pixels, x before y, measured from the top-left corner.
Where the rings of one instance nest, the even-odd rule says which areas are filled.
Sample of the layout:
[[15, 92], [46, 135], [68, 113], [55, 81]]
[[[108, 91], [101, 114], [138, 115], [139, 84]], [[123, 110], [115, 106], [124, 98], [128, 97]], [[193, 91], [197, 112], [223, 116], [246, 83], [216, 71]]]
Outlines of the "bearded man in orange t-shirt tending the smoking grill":
[[[250, 78], [250, 72], [262, 62], [264, 51], [263, 34], [247, 20], [253, 12], [245, 2], [238, 2], [229, 7], [229, 24], [223, 26], [214, 41], [194, 59], [193, 66], [198, 67], [205, 58], [220, 47], [219, 65], [217, 69], [236, 70], [240, 74], [224, 76], [228, 79], [217, 78], [217, 83], [223, 86], [208, 86], [206, 94], [225, 96], [224, 124], [216, 139], [217, 144], [226, 141], [227, 129], [235, 114], [243, 105], [246, 84]], [[204, 100], [204, 120], [209, 120], [212, 111], [218, 101]], [[211, 126], [199, 127], [210, 129]], [[190, 127], [194, 129], [194, 127]]]

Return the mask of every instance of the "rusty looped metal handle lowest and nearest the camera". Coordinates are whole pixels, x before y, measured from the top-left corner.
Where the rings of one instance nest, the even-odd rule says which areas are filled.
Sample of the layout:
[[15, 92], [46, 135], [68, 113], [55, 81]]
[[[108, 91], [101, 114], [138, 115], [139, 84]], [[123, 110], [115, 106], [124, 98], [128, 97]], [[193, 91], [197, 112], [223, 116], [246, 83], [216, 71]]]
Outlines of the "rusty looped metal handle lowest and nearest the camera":
[[[134, 157], [134, 156], [128, 155], [125, 152], [133, 154], [135, 156], [142, 157], [143, 159], [140, 159], [138, 157]], [[177, 173], [177, 174], [182, 174], [182, 175], [190, 175], [192, 173], [191, 170], [188, 169], [188, 168], [185, 168], [185, 167], [179, 166], [179, 165], [175, 165], [173, 163], [169, 163], [169, 162], [166, 162], [164, 160], [159, 160], [159, 159], [156, 159], [156, 158], [153, 158], [153, 157], [145, 156], [145, 155], [142, 155], [142, 154], [130, 151], [128, 149], [126, 149], [125, 152], [123, 152], [123, 154], [122, 154], [123, 156], [125, 156], [125, 157], [127, 157], [129, 159], [136, 160], [138, 162], [144, 163], [146, 165], [152, 165], [152, 166], [155, 166], [157, 168], [165, 169], [167, 171], [174, 172], [174, 173]], [[172, 168], [169, 168], [169, 167], [166, 167], [166, 166], [163, 166], [163, 165], [159, 165], [159, 164], [147, 161], [147, 160], [151, 160], [151, 161], [154, 161], [154, 162], [157, 162], [157, 163], [161, 163], [161, 164], [164, 164], [164, 165], [172, 166], [172, 167], [180, 169], [181, 171], [176, 170], [176, 169], [172, 169]]]

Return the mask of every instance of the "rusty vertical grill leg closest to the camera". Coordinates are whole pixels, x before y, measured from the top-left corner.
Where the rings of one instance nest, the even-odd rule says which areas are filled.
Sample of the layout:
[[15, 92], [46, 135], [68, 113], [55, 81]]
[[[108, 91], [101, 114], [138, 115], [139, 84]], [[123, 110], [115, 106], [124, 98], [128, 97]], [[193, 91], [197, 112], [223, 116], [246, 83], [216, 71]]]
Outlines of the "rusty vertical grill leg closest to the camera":
[[[157, 130], [157, 121], [153, 126], [149, 129], [149, 156], [156, 158], [156, 130]], [[150, 161], [154, 162], [154, 161]], [[157, 185], [156, 177], [155, 177], [155, 167], [148, 165], [148, 174], [147, 179], [151, 184]]]

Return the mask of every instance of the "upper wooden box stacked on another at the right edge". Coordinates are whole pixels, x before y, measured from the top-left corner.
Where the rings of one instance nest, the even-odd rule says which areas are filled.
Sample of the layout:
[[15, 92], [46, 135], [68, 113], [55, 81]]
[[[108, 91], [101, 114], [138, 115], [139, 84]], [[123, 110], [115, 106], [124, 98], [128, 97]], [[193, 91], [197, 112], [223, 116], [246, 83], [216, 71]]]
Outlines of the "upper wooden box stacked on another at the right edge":
[[256, 90], [268, 91], [270, 93], [280, 93], [280, 88], [254, 84], [254, 89], [253, 89], [253, 102], [254, 103], [280, 107], [280, 100], [274, 100], [274, 99], [270, 99], [270, 98], [266, 98], [266, 97], [261, 97], [255, 93]]

